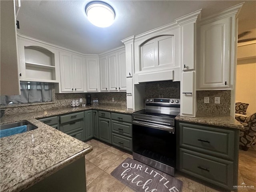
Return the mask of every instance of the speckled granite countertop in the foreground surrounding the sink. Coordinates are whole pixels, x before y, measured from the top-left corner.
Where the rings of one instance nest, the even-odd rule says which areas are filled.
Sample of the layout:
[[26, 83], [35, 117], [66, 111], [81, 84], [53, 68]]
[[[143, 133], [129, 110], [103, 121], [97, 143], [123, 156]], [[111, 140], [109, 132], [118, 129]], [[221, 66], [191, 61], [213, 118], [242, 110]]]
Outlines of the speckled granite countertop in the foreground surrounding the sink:
[[[40, 114], [40, 112], [39, 112]], [[36, 116], [36, 113], [34, 113]], [[37, 129], [0, 139], [0, 190], [18, 192], [57, 172], [92, 151], [92, 147], [29, 114], [2, 122], [28, 120]]]

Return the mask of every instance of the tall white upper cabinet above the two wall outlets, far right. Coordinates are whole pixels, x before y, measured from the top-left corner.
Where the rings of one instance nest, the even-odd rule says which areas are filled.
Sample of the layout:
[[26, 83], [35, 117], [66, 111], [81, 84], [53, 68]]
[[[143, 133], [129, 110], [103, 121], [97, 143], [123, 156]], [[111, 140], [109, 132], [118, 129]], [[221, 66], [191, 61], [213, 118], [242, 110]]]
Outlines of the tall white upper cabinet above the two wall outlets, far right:
[[200, 21], [197, 90], [232, 90], [236, 68], [237, 19], [242, 4]]

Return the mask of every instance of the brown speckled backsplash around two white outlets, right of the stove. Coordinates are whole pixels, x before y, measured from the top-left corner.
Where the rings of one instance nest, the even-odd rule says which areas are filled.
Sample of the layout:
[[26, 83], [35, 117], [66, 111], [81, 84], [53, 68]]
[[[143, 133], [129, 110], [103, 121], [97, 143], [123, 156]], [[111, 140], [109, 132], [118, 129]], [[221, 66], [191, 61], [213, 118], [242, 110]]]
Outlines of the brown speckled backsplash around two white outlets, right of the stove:
[[[209, 97], [209, 103], [204, 103], [204, 97]], [[214, 97], [220, 97], [220, 104], [214, 104]], [[230, 90], [197, 91], [197, 112], [204, 114], [230, 114]]]

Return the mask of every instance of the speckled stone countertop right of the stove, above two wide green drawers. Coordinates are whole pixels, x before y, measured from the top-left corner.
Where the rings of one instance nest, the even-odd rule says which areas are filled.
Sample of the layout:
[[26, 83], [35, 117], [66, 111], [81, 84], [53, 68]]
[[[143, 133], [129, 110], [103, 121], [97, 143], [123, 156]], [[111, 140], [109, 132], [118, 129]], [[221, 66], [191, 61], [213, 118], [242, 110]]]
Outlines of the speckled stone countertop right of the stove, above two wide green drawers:
[[196, 117], [176, 116], [175, 120], [235, 129], [244, 129], [235, 118], [230, 115], [196, 114]]

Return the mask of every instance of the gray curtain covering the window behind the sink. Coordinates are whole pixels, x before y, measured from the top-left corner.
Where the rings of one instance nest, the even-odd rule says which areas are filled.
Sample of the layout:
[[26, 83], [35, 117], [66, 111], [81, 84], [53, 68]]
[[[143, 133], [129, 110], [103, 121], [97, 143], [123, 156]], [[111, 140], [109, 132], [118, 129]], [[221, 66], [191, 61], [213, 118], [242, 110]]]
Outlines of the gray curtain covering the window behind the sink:
[[20, 82], [20, 95], [1, 96], [1, 105], [52, 101], [52, 84]]

